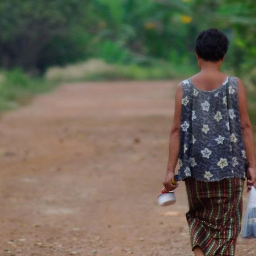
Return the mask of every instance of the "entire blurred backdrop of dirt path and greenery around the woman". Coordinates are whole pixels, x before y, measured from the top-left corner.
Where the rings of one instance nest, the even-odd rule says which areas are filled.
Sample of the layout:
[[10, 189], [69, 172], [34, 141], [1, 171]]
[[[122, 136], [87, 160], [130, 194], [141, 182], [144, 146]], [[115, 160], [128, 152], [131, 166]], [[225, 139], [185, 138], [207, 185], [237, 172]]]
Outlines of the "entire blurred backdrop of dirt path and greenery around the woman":
[[192, 256], [183, 182], [157, 201], [176, 86], [199, 32], [223, 31], [256, 143], [255, 17], [254, 0], [1, 0], [0, 255]]

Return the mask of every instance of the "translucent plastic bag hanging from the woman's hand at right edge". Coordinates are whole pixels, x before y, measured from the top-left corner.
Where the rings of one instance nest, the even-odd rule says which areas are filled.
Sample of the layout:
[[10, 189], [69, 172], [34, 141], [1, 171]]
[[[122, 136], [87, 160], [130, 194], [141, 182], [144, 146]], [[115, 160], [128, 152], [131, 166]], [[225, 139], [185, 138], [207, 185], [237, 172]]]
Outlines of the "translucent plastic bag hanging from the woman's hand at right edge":
[[251, 187], [249, 200], [245, 213], [245, 222], [243, 223], [242, 237], [256, 238], [256, 188]]

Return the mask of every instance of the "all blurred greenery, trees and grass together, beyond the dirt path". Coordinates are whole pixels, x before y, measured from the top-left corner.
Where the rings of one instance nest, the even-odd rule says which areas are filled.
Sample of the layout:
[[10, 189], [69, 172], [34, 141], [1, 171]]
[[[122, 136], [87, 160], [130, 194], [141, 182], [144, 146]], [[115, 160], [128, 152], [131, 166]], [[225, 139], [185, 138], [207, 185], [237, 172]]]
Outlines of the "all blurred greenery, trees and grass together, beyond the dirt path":
[[2, 0], [0, 109], [64, 81], [190, 76], [196, 35], [210, 27], [230, 40], [222, 70], [251, 89], [255, 14], [253, 0]]

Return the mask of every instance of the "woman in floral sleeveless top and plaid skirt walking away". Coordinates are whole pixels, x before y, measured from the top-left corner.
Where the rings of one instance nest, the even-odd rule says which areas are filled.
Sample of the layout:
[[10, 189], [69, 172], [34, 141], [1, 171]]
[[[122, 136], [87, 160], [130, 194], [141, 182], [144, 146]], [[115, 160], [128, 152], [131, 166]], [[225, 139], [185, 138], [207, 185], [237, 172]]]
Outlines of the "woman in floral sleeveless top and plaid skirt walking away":
[[185, 181], [186, 218], [195, 255], [234, 255], [241, 231], [242, 193], [256, 185], [253, 131], [245, 85], [220, 72], [229, 41], [216, 28], [200, 32], [200, 72], [180, 82], [164, 187], [178, 174]]

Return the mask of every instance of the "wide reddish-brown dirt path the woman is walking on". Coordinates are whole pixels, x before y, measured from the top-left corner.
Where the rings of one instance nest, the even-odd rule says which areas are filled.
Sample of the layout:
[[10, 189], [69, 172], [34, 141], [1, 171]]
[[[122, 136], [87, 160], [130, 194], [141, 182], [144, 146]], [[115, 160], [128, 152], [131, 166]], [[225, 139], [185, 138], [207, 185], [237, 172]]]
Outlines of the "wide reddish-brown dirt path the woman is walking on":
[[193, 255], [183, 182], [157, 203], [176, 85], [64, 85], [3, 115], [0, 255]]

